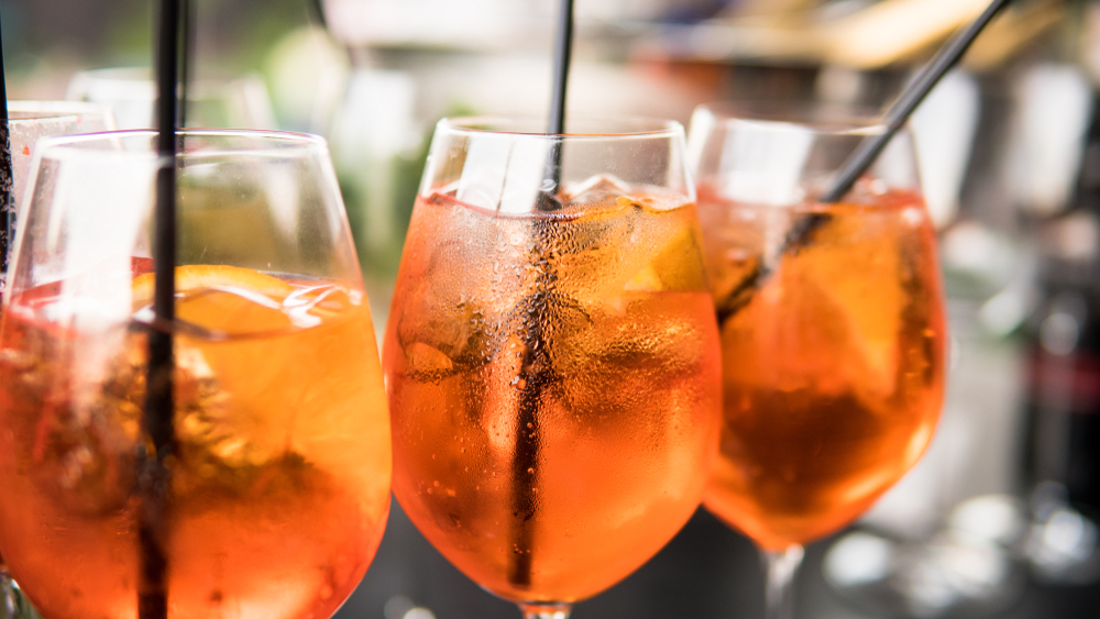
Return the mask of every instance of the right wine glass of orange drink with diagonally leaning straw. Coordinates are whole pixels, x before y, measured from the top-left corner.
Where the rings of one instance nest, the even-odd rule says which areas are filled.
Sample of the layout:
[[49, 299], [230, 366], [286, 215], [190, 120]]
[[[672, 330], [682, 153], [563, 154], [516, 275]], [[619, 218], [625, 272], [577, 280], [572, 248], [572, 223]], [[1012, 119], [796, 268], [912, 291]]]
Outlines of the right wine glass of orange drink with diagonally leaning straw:
[[912, 140], [815, 201], [872, 119], [702, 107], [700, 219], [725, 425], [706, 508], [761, 549], [770, 619], [802, 544], [855, 520], [924, 453], [944, 391], [944, 300]]

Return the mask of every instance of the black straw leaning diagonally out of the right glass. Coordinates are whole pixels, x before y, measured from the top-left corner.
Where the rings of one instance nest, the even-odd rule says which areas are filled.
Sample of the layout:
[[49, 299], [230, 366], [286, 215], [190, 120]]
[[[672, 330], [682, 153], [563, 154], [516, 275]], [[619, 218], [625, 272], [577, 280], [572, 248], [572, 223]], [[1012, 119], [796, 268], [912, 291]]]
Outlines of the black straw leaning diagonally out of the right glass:
[[[927, 64], [921, 73], [917, 74], [905, 90], [898, 97], [887, 113], [883, 114], [883, 121], [886, 124], [886, 130], [878, 134], [865, 139], [860, 142], [856, 151], [848, 157], [848, 159], [840, 166], [840, 170], [836, 174], [832, 185], [829, 185], [828, 190], [826, 190], [817, 201], [823, 205], [834, 205], [839, 202], [851, 188], [856, 185], [861, 176], [871, 167], [875, 159], [878, 158], [882, 151], [887, 147], [890, 141], [905, 123], [909, 121], [910, 117], [921, 104], [922, 101], [932, 92], [932, 89], [939, 84], [947, 71], [949, 71], [955, 65], [963, 59], [967, 49], [970, 45], [978, 38], [982, 30], [989, 25], [989, 22], [1001, 12], [1002, 9], [1008, 7], [1012, 0], [993, 0], [989, 7], [978, 18], [970, 23], [966, 29], [954, 36], [947, 45], [936, 54], [936, 56]], [[810, 243], [814, 231], [820, 229], [822, 225], [829, 221], [831, 217], [825, 213], [814, 213], [806, 218], [803, 218], [800, 222], [794, 224], [788, 232], [787, 237], [783, 240], [783, 245], [780, 248], [779, 254], [785, 254], [789, 252], [798, 251]], [[725, 324], [734, 314], [740, 311], [750, 300], [752, 300], [752, 295], [759, 289], [760, 285], [771, 275], [773, 265], [768, 264], [765, 257], [757, 261], [756, 266], [734, 288], [734, 290], [727, 295], [725, 298], [717, 302], [718, 312], [718, 323]]]

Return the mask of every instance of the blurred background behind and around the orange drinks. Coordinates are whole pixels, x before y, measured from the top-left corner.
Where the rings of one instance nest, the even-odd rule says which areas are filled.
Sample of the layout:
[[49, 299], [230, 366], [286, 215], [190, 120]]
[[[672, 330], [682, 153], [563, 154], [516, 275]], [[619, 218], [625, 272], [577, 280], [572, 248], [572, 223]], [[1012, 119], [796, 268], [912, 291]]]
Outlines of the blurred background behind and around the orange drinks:
[[[378, 324], [435, 122], [543, 115], [557, 0], [193, 0], [189, 123], [327, 136]], [[759, 99], [877, 110], [986, 0], [576, 0], [573, 115]], [[147, 126], [148, 0], [0, 0], [9, 92]], [[913, 121], [952, 321], [922, 464], [813, 544], [804, 619], [1100, 616], [1100, 2], [1018, 0]], [[581, 567], [583, 568], [583, 566]], [[574, 617], [762, 616], [700, 512]], [[495, 619], [394, 506], [342, 619]]]

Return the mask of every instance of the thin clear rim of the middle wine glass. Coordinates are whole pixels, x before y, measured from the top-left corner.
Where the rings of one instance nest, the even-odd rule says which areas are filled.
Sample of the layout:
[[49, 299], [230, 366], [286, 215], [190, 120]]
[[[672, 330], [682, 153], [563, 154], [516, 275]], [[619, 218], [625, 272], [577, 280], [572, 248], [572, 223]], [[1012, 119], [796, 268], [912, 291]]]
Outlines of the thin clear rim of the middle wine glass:
[[[614, 128], [624, 128], [622, 131], [596, 131], [581, 133], [546, 133], [542, 131], [531, 131], [527, 126], [540, 126], [546, 124], [544, 118], [530, 115], [471, 115], [443, 118], [437, 126], [453, 133], [468, 135], [514, 135], [518, 137], [535, 137], [542, 140], [629, 140], [629, 139], [664, 139], [675, 137], [684, 134], [684, 128], [680, 122], [667, 119], [651, 119], [645, 117], [570, 117], [569, 122], [598, 123]], [[488, 126], [503, 125], [502, 129], [490, 129]], [[525, 129], [506, 129], [508, 125], [521, 125]]]

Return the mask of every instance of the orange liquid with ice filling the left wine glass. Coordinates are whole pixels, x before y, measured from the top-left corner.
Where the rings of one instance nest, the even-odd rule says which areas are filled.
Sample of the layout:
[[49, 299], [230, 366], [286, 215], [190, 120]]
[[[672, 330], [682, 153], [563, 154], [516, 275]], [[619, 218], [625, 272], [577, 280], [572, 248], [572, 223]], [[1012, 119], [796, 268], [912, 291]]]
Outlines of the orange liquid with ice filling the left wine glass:
[[[170, 618], [327, 618], [381, 541], [389, 425], [366, 301], [309, 285], [296, 324], [227, 292], [177, 301], [230, 335], [175, 338]], [[57, 319], [56, 288], [14, 299], [0, 332], [0, 548], [45, 617], [133, 619], [145, 335]]]

